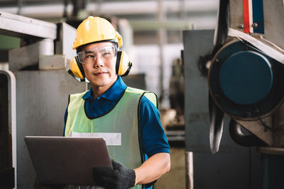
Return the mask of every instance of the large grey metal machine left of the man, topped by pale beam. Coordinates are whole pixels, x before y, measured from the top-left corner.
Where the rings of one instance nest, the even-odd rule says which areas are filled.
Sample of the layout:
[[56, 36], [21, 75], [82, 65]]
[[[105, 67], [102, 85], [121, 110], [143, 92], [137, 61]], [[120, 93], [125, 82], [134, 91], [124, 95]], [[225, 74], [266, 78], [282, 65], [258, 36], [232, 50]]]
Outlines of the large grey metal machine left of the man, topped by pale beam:
[[68, 95], [87, 87], [67, 73], [75, 55], [75, 28], [67, 23], [1, 11], [0, 34], [21, 38], [7, 52], [9, 70], [0, 71], [0, 188], [29, 189], [35, 171], [23, 138], [62, 136]]

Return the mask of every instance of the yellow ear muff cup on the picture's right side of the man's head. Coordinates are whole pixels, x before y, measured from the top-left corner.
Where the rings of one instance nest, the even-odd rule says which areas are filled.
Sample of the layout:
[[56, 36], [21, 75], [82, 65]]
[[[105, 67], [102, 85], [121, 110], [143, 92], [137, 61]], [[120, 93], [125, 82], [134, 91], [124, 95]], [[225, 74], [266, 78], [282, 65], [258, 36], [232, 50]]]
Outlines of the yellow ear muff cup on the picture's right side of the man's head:
[[124, 51], [118, 51], [116, 57], [116, 74], [119, 76], [127, 76], [132, 67], [129, 56]]

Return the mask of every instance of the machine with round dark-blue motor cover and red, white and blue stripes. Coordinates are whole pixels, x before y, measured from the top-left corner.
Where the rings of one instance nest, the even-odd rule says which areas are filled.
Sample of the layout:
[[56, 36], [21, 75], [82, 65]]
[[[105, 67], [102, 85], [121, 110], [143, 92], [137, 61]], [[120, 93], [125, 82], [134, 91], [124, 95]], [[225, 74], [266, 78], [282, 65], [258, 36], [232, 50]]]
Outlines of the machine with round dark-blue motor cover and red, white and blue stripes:
[[208, 73], [212, 153], [219, 150], [229, 115], [234, 142], [263, 155], [263, 188], [284, 185], [283, 4], [221, 0]]

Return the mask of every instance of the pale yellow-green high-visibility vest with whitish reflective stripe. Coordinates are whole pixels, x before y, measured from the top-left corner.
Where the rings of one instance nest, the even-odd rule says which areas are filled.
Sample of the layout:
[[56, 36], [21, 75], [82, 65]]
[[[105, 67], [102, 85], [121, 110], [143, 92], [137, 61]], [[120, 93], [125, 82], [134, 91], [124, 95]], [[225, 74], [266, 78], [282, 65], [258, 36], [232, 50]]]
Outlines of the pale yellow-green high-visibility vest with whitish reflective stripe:
[[[85, 91], [84, 93], [86, 93]], [[67, 108], [66, 137], [102, 137], [109, 156], [126, 168], [137, 168], [143, 163], [140, 139], [139, 110], [143, 96], [157, 106], [155, 93], [127, 87], [123, 96], [109, 113], [89, 119], [84, 112], [84, 93], [70, 95]], [[141, 188], [136, 185], [135, 188]]]

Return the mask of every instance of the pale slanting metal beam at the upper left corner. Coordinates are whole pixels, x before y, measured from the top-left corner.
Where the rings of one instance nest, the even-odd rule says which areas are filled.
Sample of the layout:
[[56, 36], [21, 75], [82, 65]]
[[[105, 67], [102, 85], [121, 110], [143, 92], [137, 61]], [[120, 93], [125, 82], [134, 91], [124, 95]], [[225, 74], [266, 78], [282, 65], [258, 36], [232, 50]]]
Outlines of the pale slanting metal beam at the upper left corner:
[[0, 33], [16, 37], [56, 39], [57, 26], [25, 16], [0, 11]]

